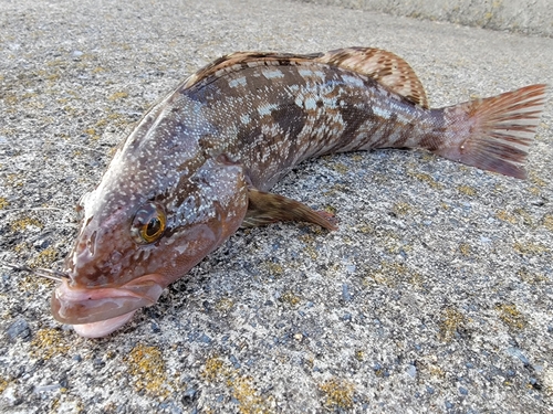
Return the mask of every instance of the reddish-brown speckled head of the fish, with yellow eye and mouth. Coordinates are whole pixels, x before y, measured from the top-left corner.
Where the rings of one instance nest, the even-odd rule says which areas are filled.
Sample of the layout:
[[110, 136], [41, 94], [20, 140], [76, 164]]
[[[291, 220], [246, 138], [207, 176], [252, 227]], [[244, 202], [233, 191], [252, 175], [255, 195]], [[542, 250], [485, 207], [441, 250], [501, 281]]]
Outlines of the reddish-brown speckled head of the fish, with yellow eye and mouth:
[[143, 173], [144, 157], [128, 148], [117, 152], [82, 199], [69, 278], [52, 295], [56, 320], [83, 337], [113, 332], [240, 226], [248, 208], [242, 167], [192, 147], [164, 158], [173, 164], [157, 174]]

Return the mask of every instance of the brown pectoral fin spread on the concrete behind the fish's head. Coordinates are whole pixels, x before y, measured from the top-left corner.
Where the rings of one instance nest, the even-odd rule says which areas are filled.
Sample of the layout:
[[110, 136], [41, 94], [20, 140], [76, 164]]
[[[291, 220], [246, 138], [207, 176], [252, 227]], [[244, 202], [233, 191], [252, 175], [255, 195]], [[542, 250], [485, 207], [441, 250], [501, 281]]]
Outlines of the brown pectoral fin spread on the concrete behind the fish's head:
[[332, 217], [331, 214], [314, 211], [299, 201], [255, 189], [248, 190], [248, 211], [242, 222], [244, 227], [278, 221], [300, 221], [319, 224], [327, 230], [336, 230], [336, 226], [328, 220]]

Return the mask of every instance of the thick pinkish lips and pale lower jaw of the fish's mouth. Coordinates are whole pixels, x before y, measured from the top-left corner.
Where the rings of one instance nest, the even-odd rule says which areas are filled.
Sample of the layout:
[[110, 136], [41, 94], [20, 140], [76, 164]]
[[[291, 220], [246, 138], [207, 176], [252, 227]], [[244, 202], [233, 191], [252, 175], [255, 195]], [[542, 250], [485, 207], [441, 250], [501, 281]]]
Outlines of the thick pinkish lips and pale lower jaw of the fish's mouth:
[[125, 325], [137, 309], [157, 302], [166, 286], [166, 278], [158, 274], [117, 287], [82, 288], [63, 280], [52, 294], [52, 315], [73, 325], [82, 337], [104, 337]]

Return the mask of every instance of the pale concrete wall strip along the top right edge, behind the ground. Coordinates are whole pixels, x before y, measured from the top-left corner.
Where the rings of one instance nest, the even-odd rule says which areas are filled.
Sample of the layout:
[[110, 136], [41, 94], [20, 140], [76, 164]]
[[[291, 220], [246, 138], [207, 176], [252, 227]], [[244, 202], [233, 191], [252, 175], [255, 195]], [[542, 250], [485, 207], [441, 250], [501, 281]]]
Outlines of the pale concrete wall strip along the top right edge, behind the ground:
[[553, 38], [550, 0], [296, 0]]

